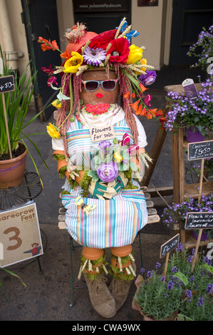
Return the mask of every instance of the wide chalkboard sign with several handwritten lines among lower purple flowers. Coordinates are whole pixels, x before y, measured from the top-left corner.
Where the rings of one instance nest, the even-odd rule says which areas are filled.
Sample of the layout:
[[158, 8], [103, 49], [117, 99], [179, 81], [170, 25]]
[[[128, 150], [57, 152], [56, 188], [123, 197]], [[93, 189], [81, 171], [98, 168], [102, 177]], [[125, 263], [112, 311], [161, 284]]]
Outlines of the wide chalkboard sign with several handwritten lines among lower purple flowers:
[[185, 229], [213, 229], [213, 212], [189, 212]]

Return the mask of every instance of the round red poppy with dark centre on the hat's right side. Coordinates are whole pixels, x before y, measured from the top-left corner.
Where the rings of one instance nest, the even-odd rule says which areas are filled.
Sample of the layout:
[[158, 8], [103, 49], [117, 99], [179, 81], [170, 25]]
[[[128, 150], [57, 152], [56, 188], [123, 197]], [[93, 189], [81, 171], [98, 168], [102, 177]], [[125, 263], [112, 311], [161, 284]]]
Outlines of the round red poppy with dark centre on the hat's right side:
[[128, 56], [130, 53], [130, 43], [128, 42], [127, 38], [121, 37], [116, 38], [113, 41], [110, 42], [111, 46], [108, 50], [108, 54], [110, 54], [110, 62], [115, 63], [121, 63], [125, 64], [128, 60]]

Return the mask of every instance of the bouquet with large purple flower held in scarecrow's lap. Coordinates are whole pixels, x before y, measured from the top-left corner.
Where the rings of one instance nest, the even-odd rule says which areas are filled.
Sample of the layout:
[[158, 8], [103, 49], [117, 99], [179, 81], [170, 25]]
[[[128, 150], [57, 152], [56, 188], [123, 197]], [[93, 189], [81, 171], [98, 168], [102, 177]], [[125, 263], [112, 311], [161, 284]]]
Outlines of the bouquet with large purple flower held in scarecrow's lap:
[[80, 180], [82, 195], [97, 195], [99, 198], [110, 199], [118, 194], [120, 190], [136, 189], [133, 179], [140, 182], [142, 179], [142, 165], [148, 166], [147, 161], [152, 161], [150, 156], [144, 152], [138, 152], [137, 145], [130, 145], [130, 138], [127, 133], [123, 135], [122, 140], [115, 138], [113, 143], [108, 140], [101, 141], [98, 146], [91, 149], [92, 160], [91, 169], [85, 165], [77, 165], [71, 172], [69, 182], [71, 188], [78, 186], [76, 176], [79, 176], [80, 170], [84, 170], [83, 177]]

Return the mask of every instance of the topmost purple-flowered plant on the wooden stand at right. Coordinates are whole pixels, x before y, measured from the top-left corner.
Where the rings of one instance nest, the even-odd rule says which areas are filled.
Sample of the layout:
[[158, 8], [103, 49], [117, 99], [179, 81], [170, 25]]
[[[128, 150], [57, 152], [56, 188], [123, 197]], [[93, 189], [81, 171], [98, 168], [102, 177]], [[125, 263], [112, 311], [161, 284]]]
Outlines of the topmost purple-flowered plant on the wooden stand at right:
[[212, 108], [213, 91], [212, 82], [207, 79], [201, 83], [202, 89], [197, 92], [196, 98], [189, 98], [177, 92], [167, 93], [167, 100], [170, 100], [170, 110], [165, 115], [163, 128], [166, 131], [177, 133], [179, 128], [192, 128], [192, 131], [199, 130], [207, 136], [213, 128]]

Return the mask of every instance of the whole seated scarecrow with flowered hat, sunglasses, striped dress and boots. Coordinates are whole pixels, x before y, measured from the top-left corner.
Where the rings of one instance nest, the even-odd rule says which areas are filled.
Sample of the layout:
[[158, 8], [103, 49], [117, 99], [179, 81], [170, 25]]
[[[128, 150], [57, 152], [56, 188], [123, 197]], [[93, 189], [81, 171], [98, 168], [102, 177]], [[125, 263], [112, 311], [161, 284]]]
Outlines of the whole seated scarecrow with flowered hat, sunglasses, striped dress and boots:
[[[51, 74], [53, 88], [54, 74], [61, 73], [56, 125], [47, 130], [58, 173], [66, 176], [62, 199], [67, 230], [83, 246], [78, 277], [85, 277], [90, 301], [105, 318], [114, 316], [128, 297], [136, 271], [132, 243], [147, 224], [139, 182], [143, 162], [150, 158], [137, 115], [154, 112], [138, 78], [150, 84], [156, 75], [147, 71], [152, 67], [142, 58], [142, 48], [130, 45], [135, 35], [125, 19], [118, 29], [100, 34], [76, 24], [66, 31], [62, 66], [43, 69]], [[56, 41], [38, 41], [43, 50], [58, 50]], [[109, 287], [106, 248], [113, 274]]]

